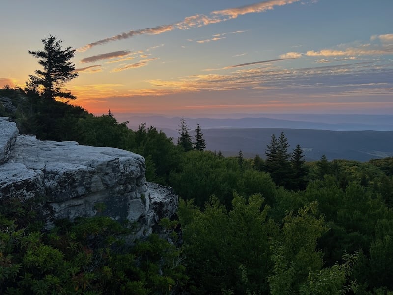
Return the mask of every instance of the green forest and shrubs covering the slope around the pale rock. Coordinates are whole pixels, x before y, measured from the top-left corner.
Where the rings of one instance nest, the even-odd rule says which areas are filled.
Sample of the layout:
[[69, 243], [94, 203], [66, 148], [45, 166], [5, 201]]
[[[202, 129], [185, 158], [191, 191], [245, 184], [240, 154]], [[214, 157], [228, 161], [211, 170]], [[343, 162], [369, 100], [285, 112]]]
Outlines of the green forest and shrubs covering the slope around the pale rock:
[[[185, 119], [177, 144], [141, 122], [23, 89], [0, 89], [21, 133], [42, 140], [130, 150], [149, 181], [181, 198], [177, 246], [152, 235], [124, 244], [130, 229], [105, 217], [42, 230], [31, 206], [0, 207], [1, 294], [392, 294], [393, 158], [305, 162], [300, 146], [272, 135], [265, 155], [204, 151], [201, 126]], [[203, 127], [203, 126], [202, 126]], [[94, 233], [94, 235], [91, 235]], [[176, 240], [176, 232], [173, 232]]]

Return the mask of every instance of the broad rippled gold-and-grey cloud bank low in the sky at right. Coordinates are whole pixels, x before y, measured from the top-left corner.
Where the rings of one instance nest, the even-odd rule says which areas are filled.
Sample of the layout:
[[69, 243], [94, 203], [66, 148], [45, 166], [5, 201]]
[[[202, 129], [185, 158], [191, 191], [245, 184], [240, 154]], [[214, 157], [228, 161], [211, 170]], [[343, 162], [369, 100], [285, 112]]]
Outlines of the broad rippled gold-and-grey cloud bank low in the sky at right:
[[[181, 77], [176, 80], [148, 80], [151, 89], [162, 89], [168, 93], [200, 91], [242, 90], [248, 97], [258, 93], [270, 93], [290, 99], [291, 95], [304, 93], [305, 96], [353, 96], [355, 93], [373, 92], [375, 96], [388, 97], [393, 87], [393, 64], [385, 68], [375, 62], [358, 62], [310, 68], [285, 69], [280, 67], [260, 67], [236, 69], [225, 75], [207, 74]], [[160, 91], [151, 91], [161, 95]], [[147, 91], [147, 90], [146, 90]], [[146, 92], [147, 93], [147, 92]], [[253, 94], [254, 93], [254, 94]], [[153, 94], [152, 94], [153, 95]], [[251, 95], [251, 96], [250, 96]], [[264, 94], [263, 94], [264, 95]], [[358, 96], [357, 96], [358, 97]], [[359, 96], [360, 97], [360, 96]]]

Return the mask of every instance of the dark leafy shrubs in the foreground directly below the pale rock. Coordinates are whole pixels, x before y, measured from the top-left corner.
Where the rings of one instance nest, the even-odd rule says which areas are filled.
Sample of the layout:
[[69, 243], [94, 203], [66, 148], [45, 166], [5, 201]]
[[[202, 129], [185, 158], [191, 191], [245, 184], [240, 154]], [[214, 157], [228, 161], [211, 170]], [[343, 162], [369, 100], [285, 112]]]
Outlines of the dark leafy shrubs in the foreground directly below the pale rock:
[[131, 227], [103, 216], [39, 231], [22, 227], [35, 217], [19, 205], [20, 218], [0, 214], [1, 294], [170, 294], [187, 279], [179, 250], [155, 234], [126, 244]]

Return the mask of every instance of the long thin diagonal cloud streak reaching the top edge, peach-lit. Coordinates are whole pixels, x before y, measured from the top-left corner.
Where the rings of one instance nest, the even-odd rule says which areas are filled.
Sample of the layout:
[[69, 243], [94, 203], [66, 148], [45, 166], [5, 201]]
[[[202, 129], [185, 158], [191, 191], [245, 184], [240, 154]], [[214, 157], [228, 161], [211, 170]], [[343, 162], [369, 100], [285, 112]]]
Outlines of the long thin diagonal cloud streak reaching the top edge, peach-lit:
[[209, 24], [220, 23], [230, 19], [237, 18], [239, 15], [264, 12], [267, 10], [272, 10], [275, 6], [283, 6], [298, 1], [300, 0], [269, 0], [269, 1], [255, 3], [252, 5], [245, 5], [237, 8], [212, 11], [209, 15], [196, 14], [193, 16], [186, 17], [184, 18], [183, 21], [174, 24], [161, 25], [153, 28], [145, 28], [145, 29], [130, 30], [128, 32], [123, 32], [118, 35], [87, 44], [84, 47], [79, 48], [78, 51], [83, 52], [97, 45], [103, 45], [112, 41], [128, 39], [137, 35], [143, 35], [143, 34], [155, 35], [155, 34], [161, 34], [164, 32], [172, 31], [174, 29], [190, 29], [194, 27], [201, 27]]

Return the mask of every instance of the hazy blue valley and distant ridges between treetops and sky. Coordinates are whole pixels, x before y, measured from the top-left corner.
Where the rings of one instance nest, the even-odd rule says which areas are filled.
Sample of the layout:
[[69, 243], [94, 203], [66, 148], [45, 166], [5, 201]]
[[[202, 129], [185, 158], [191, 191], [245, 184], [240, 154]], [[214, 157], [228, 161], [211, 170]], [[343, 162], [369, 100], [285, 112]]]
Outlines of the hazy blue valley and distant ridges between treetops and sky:
[[[141, 123], [162, 130], [176, 142], [180, 117], [155, 114], [118, 113], [120, 121], [128, 121], [131, 129]], [[224, 118], [223, 118], [224, 117]], [[226, 118], [225, 118], [226, 117]], [[199, 124], [206, 149], [245, 157], [256, 154], [264, 158], [271, 135], [284, 132], [293, 150], [302, 147], [309, 161], [325, 155], [329, 160], [368, 161], [393, 156], [393, 115], [364, 114], [226, 114], [215, 118], [186, 118], [190, 133]]]

